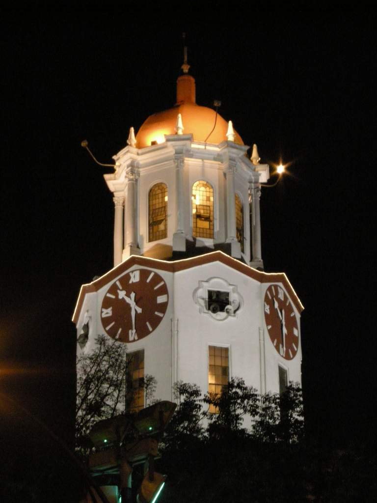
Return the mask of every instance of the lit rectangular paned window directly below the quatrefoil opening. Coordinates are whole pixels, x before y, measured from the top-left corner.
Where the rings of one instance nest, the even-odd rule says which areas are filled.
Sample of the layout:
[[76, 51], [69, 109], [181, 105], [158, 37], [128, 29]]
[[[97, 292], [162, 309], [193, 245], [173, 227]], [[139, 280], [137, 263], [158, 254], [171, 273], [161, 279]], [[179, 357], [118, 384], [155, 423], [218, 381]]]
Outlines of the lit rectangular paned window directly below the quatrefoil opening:
[[[219, 395], [229, 381], [229, 348], [209, 346], [208, 391]], [[209, 412], [217, 413], [216, 407], [210, 406]]]

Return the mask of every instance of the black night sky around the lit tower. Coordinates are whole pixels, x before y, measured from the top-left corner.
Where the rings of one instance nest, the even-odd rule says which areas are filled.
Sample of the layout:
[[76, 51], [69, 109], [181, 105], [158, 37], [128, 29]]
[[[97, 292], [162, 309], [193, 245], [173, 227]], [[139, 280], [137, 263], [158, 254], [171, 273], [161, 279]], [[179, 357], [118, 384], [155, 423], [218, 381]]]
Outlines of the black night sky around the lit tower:
[[3, 19], [5, 417], [8, 396], [69, 436], [70, 319], [80, 285], [113, 260], [114, 205], [103, 180], [112, 170], [80, 142], [111, 163], [130, 126], [174, 104], [186, 31], [197, 103], [221, 100], [220, 114], [257, 143], [261, 162], [292, 162], [279, 186], [262, 189], [262, 257], [305, 306], [308, 431], [339, 445], [375, 439], [375, 19], [303, 9], [219, 16], [160, 25], [132, 9], [61, 9]]

